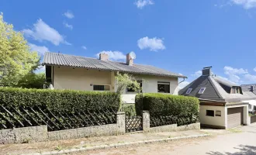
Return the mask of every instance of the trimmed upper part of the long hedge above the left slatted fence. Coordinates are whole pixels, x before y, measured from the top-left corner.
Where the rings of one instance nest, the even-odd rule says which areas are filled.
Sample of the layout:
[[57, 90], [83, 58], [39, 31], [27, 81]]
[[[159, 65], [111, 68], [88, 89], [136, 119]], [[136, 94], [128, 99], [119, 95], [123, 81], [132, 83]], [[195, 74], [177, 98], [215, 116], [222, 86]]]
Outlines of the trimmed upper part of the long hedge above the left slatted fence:
[[118, 111], [120, 96], [113, 92], [71, 91], [48, 89], [0, 88], [0, 105], [47, 106], [50, 110], [104, 110]]

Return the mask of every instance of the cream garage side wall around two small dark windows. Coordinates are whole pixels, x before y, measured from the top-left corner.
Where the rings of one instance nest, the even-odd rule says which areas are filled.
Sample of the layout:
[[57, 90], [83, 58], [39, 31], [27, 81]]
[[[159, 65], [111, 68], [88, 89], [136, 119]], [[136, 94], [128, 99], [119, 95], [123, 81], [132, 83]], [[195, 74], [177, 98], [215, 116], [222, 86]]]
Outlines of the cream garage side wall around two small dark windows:
[[[213, 110], [214, 117], [206, 115], [206, 110]], [[221, 111], [221, 116], [216, 116], [216, 110]], [[225, 117], [227, 115], [224, 106], [200, 105], [199, 117], [202, 126], [225, 128]]]

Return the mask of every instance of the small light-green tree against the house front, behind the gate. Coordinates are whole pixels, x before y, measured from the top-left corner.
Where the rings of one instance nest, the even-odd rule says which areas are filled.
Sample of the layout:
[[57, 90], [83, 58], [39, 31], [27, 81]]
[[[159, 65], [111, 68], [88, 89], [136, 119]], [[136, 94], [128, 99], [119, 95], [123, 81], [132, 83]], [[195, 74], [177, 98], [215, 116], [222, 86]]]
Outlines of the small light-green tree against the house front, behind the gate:
[[[140, 84], [136, 81], [135, 77], [131, 74], [116, 74], [116, 93], [121, 95], [126, 88], [132, 88], [134, 91], [140, 92]], [[120, 102], [119, 111], [122, 111], [123, 102]]]

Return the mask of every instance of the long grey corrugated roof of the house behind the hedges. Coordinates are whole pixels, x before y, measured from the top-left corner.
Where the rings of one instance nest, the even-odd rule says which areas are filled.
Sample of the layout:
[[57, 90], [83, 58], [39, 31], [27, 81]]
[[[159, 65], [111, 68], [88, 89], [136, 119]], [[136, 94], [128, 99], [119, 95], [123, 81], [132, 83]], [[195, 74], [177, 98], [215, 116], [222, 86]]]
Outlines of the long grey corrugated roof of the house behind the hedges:
[[133, 66], [130, 66], [125, 63], [112, 60], [99, 60], [95, 58], [73, 56], [64, 53], [45, 53], [43, 57], [43, 65], [85, 67], [89, 69], [121, 71], [133, 74], [150, 74], [164, 77], [185, 77], [182, 74], [172, 73], [171, 71], [165, 71], [161, 68], [153, 67], [150, 65], [133, 64]]

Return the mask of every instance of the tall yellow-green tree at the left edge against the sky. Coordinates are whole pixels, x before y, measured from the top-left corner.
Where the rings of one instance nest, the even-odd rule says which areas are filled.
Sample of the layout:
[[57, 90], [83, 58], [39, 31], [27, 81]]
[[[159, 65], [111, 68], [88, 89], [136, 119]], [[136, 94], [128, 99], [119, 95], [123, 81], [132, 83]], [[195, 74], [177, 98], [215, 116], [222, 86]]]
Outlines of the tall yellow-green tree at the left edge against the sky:
[[37, 52], [31, 52], [22, 33], [13, 30], [0, 14], [0, 85], [15, 87], [39, 64]]

